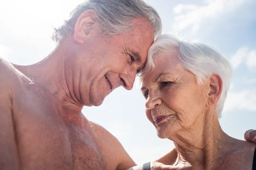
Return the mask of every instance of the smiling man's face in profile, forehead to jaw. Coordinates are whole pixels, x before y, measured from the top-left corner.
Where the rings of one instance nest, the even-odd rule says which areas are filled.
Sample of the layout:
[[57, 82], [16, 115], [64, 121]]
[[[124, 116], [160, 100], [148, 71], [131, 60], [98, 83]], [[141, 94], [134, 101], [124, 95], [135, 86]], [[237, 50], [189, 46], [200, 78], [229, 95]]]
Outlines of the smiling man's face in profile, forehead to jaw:
[[86, 42], [76, 47], [73, 68], [79, 71], [75, 75], [79, 84], [73, 86], [78, 88], [79, 92], [75, 90], [75, 94], [83, 105], [101, 105], [105, 97], [121, 85], [127, 90], [132, 89], [154, 41], [154, 31], [148, 21], [134, 21], [132, 31], [110, 38], [99, 36], [95, 28]]

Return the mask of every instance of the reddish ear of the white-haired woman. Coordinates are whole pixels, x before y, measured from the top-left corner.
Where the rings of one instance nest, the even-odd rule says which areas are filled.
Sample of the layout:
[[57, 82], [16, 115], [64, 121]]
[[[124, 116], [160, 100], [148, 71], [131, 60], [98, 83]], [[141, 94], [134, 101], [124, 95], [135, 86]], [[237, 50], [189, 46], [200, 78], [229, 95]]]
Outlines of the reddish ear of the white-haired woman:
[[218, 74], [212, 74], [209, 79], [209, 104], [215, 104], [221, 97], [222, 92], [222, 79]]

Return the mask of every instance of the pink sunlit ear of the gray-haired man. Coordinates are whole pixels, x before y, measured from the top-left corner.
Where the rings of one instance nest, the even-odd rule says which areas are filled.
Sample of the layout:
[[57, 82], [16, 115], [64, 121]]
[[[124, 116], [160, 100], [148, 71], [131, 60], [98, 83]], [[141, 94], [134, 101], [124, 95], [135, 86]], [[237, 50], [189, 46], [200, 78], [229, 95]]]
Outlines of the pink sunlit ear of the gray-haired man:
[[76, 24], [74, 27], [74, 40], [80, 44], [84, 43], [84, 41], [90, 34], [91, 30], [95, 26], [95, 21], [96, 17], [94, 10], [89, 9], [81, 13], [78, 19], [76, 20]]

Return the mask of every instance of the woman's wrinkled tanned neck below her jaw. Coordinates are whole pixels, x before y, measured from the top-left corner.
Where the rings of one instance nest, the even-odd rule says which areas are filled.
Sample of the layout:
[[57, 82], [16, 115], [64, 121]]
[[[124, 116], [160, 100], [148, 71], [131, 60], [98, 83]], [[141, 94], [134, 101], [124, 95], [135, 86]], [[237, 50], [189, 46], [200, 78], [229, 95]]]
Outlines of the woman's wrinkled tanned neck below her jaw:
[[221, 129], [214, 109], [198, 118], [190, 129], [181, 130], [169, 139], [177, 150], [175, 164], [189, 163], [203, 169], [214, 168], [215, 162], [228, 155], [237, 141]]

